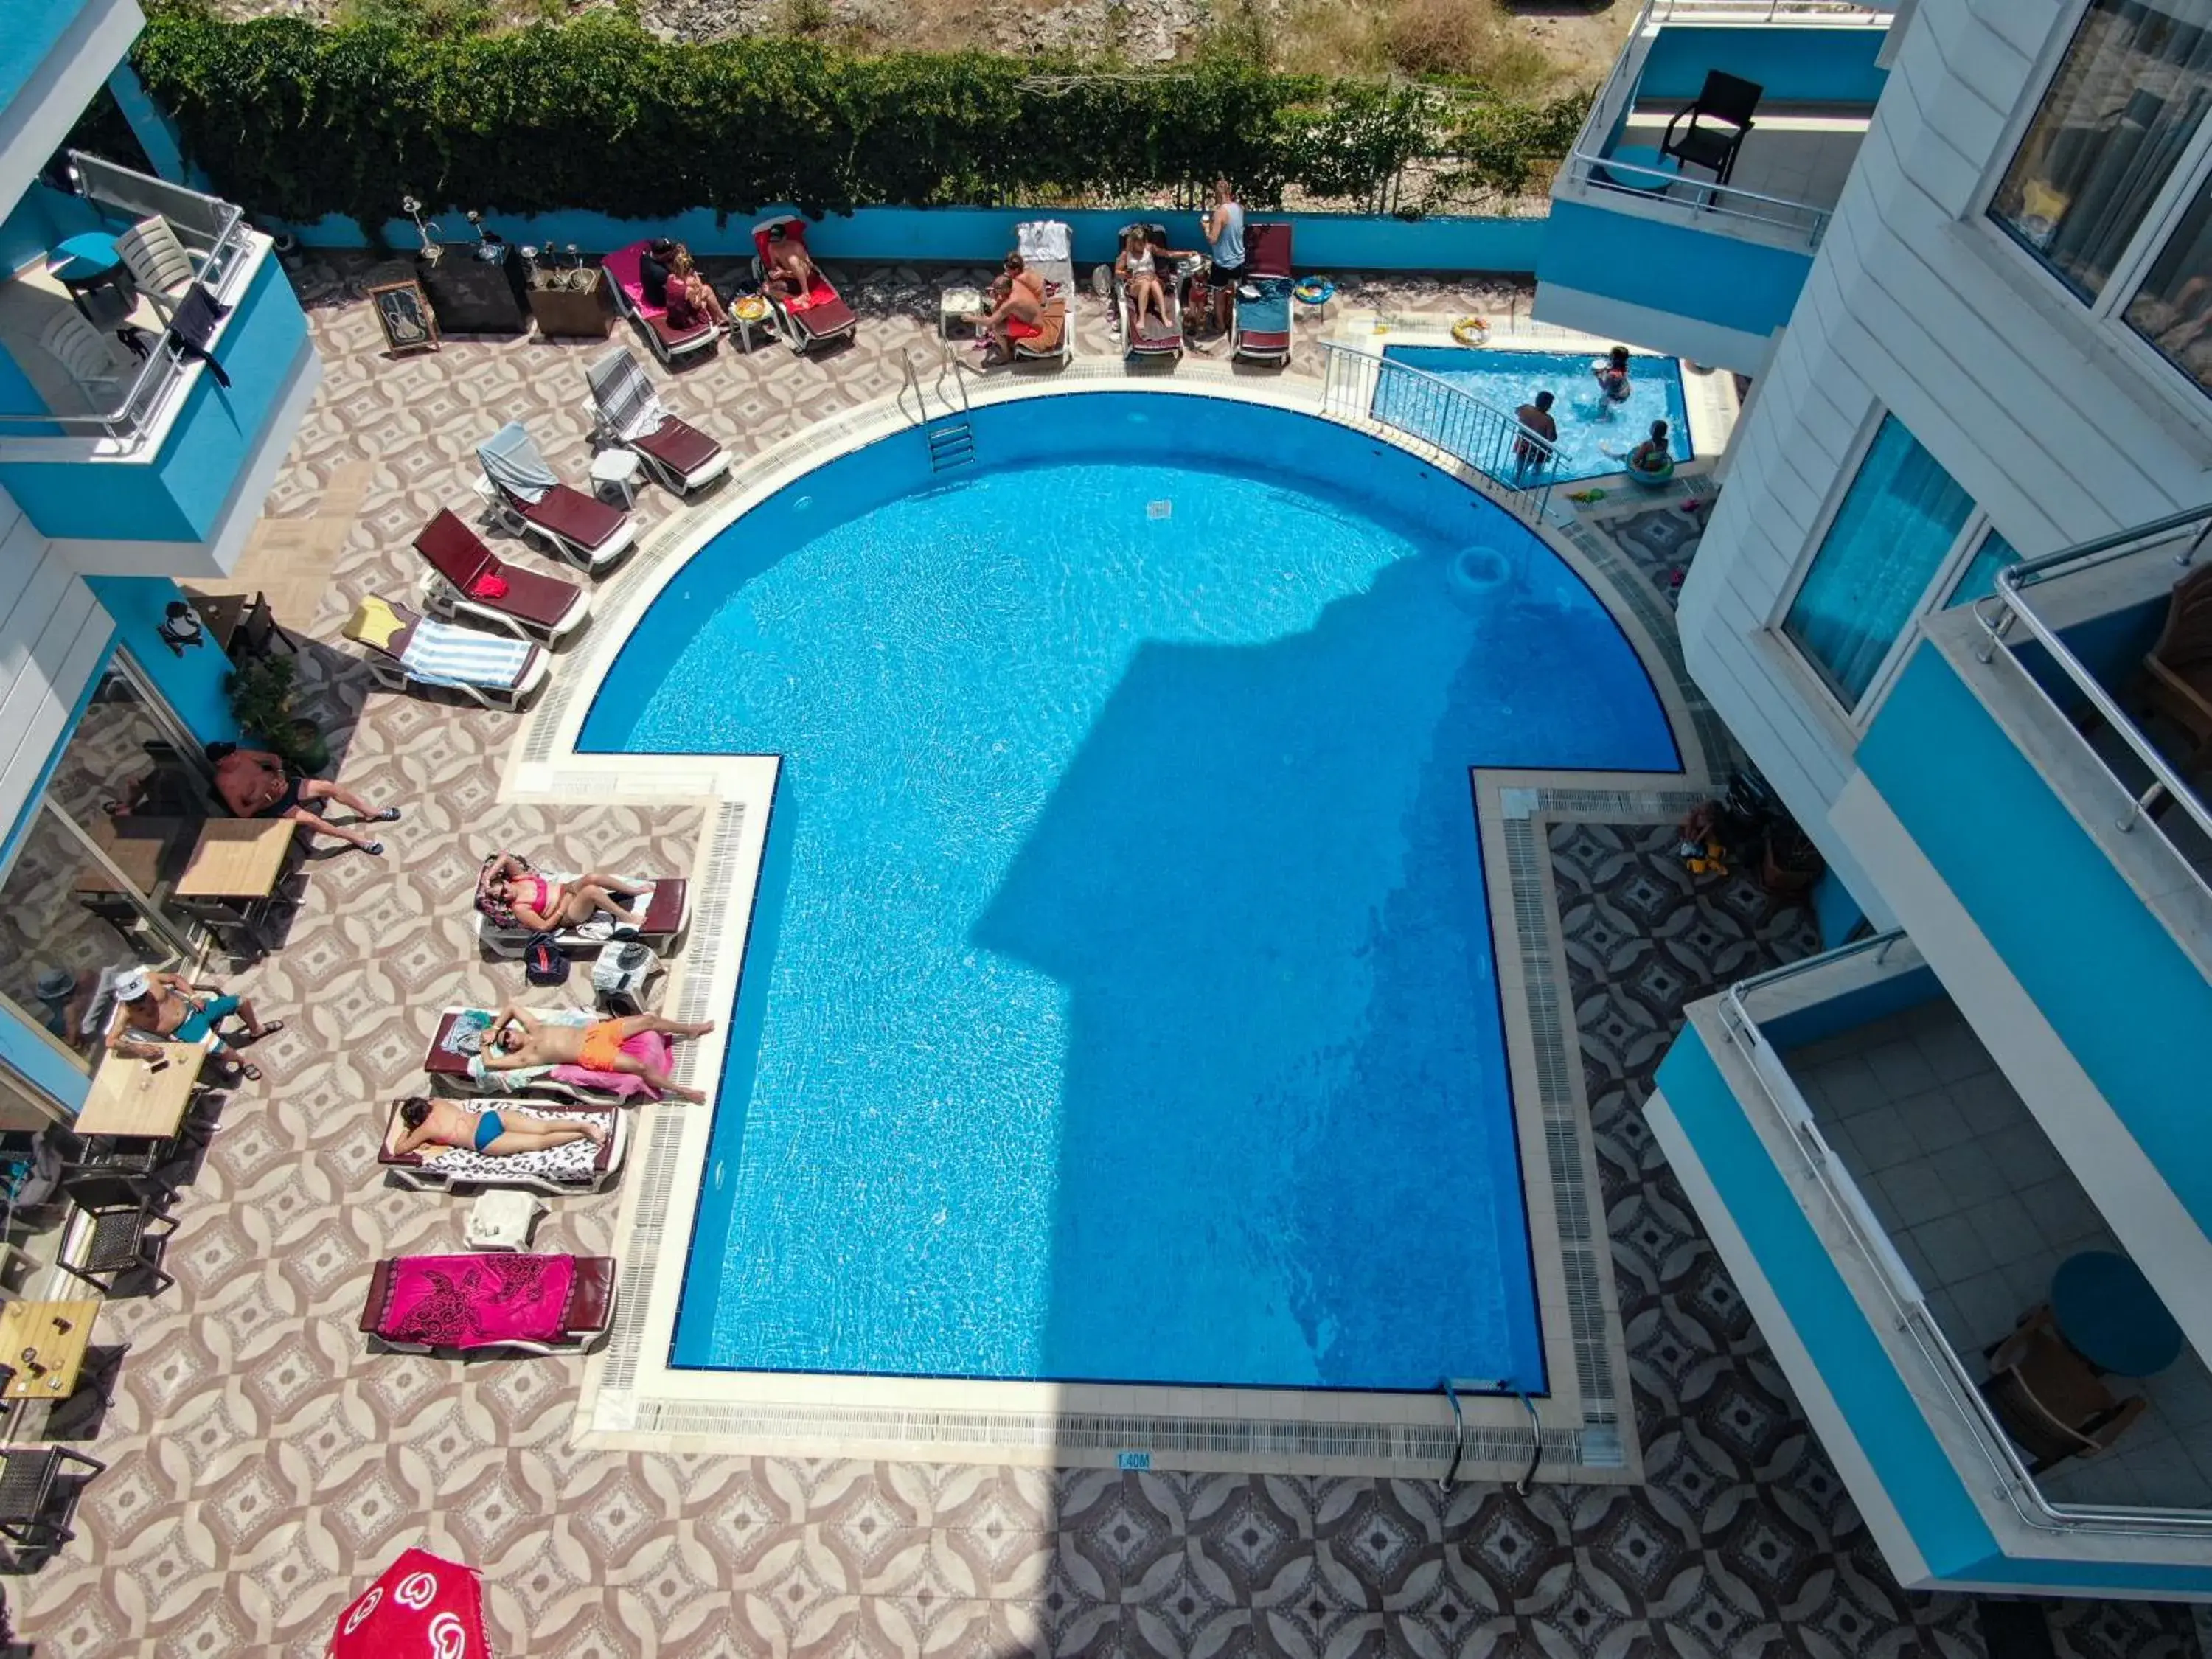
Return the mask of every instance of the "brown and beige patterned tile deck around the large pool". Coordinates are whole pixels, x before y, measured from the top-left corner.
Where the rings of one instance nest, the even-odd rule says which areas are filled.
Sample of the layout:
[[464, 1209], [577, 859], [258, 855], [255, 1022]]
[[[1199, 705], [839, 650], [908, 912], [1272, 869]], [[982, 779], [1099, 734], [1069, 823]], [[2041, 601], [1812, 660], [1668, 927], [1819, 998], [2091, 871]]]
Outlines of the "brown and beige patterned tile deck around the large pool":
[[[849, 276], [854, 349], [706, 363], [670, 403], [743, 456], [894, 392], [900, 347], [933, 334], [936, 285]], [[392, 363], [358, 303], [372, 279], [301, 274], [327, 383], [239, 575], [312, 633], [345, 781], [409, 816], [392, 856], [316, 863], [283, 951], [239, 980], [290, 1024], [177, 1203], [179, 1283], [102, 1314], [102, 1340], [131, 1345], [122, 1383], [102, 1422], [64, 1427], [111, 1467], [77, 1540], [4, 1579], [40, 1655], [321, 1655], [336, 1610], [407, 1544], [484, 1568], [498, 1650], [531, 1659], [1984, 1652], [1971, 1604], [1891, 1584], [1635, 1110], [1683, 1000], [1812, 949], [1807, 918], [1745, 883], [1692, 891], [1659, 816], [1544, 823], [1641, 1486], [1447, 1500], [1405, 1480], [599, 1453], [571, 1440], [580, 1360], [369, 1356], [354, 1329], [369, 1261], [456, 1248], [465, 1212], [378, 1181], [372, 1102], [416, 1082], [438, 1006], [520, 987], [473, 949], [482, 849], [684, 865], [701, 834], [697, 807], [500, 807], [509, 717], [389, 695], [363, 708], [365, 677], [334, 646], [345, 611], [411, 591], [411, 535], [471, 502], [473, 445], [500, 420], [529, 420], [582, 473], [593, 349], [451, 343]], [[1360, 301], [1506, 310], [1498, 290], [1407, 283]], [[668, 498], [646, 491], [639, 511], [650, 522]], [[604, 1252], [617, 1203], [564, 1199], [538, 1239]], [[2081, 1606], [2055, 1628], [2062, 1652], [2197, 1655], [2172, 1608]]]

